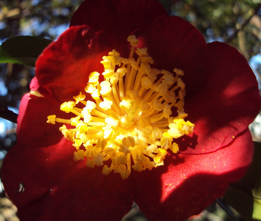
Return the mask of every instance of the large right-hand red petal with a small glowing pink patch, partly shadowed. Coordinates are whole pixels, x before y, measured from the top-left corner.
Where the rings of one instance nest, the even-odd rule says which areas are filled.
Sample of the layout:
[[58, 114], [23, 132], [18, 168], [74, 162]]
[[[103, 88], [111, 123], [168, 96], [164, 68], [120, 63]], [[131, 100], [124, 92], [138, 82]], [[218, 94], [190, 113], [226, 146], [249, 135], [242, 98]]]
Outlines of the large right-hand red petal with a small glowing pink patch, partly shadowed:
[[194, 138], [188, 138], [194, 145], [180, 149], [186, 153], [206, 153], [228, 145], [260, 110], [258, 84], [246, 59], [224, 43], [208, 46], [206, 82], [185, 98], [187, 119], [195, 123]]

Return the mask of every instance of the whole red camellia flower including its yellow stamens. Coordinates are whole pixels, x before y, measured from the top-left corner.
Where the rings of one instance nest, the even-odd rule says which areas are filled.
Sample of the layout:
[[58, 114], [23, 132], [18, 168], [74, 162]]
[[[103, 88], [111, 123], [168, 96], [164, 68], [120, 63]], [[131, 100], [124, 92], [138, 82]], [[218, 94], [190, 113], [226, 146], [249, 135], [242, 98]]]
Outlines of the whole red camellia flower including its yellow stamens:
[[85, 0], [30, 87], [2, 167], [20, 220], [182, 220], [251, 163], [247, 61], [156, 0]]

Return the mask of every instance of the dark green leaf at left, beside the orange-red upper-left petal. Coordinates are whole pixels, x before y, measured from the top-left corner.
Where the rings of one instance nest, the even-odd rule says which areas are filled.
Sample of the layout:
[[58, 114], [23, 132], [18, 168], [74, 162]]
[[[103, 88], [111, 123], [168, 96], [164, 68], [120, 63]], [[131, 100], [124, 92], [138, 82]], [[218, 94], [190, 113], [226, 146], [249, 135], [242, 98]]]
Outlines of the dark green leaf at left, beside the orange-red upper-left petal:
[[52, 41], [35, 36], [15, 36], [0, 46], [0, 63], [15, 63], [35, 66], [43, 49]]

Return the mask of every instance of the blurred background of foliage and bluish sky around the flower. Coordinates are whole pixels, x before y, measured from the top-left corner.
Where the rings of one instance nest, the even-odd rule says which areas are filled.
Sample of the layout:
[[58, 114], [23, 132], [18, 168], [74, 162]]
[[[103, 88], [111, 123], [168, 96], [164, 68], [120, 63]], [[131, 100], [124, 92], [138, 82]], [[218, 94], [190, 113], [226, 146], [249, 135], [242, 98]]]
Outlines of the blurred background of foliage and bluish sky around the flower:
[[[0, 44], [18, 35], [51, 40], [69, 27], [72, 14], [83, 0], [0, 0]], [[170, 15], [180, 16], [198, 28], [206, 42], [221, 41], [237, 48], [249, 61], [259, 81], [261, 74], [261, 0], [159, 0]], [[0, 64], [0, 105], [18, 113], [23, 94], [35, 75], [34, 68]], [[260, 82], [259, 82], [260, 83]], [[261, 140], [261, 115], [250, 125], [253, 139]], [[0, 165], [16, 143], [16, 124], [0, 118]], [[0, 189], [1, 190], [1, 189]], [[19, 220], [15, 206], [0, 193], [0, 221]], [[239, 215], [236, 215], [242, 220]], [[125, 221], [145, 221], [134, 205]], [[230, 220], [216, 204], [194, 220]]]

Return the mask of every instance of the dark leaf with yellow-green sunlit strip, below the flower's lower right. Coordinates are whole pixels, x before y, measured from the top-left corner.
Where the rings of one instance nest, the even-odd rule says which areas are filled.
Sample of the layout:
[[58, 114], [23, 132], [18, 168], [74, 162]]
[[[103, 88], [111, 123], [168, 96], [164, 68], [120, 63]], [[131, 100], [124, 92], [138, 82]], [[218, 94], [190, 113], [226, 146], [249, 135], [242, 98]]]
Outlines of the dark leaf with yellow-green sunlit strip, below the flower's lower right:
[[226, 191], [225, 200], [246, 220], [261, 220], [261, 143], [254, 142], [254, 159], [246, 175]]

